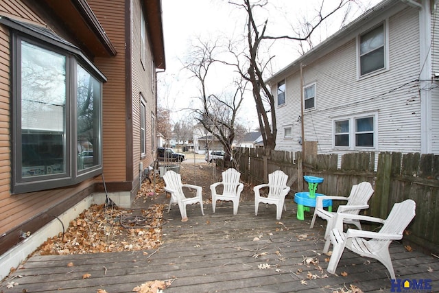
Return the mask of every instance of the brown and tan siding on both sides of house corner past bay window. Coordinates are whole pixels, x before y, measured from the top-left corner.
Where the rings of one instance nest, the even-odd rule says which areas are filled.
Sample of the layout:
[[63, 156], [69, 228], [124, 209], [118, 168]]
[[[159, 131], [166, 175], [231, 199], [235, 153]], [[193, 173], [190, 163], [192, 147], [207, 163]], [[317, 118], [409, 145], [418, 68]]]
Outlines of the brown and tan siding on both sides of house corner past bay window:
[[[136, 189], [139, 183], [139, 163], [142, 161], [143, 167], [147, 167], [153, 161], [150, 113], [155, 113], [156, 105], [152, 85], [152, 75], [155, 72], [149, 40], [145, 68], [140, 59], [142, 3], [140, 0], [132, 1], [131, 27], [125, 27], [126, 20], [123, 19], [126, 15], [123, 6], [125, 1], [108, 3], [104, 0], [91, 0], [88, 4], [118, 51], [118, 55], [110, 61], [104, 58], [95, 60], [95, 64], [108, 78], [108, 82], [104, 84], [103, 108], [105, 178], [110, 186], [111, 183], [127, 180]], [[111, 17], [108, 17], [108, 10], [112, 10]], [[104, 15], [105, 18], [102, 17]], [[130, 66], [126, 66], [124, 62], [130, 62]], [[126, 72], [126, 69], [131, 71]], [[123, 72], [125, 74], [121, 74]], [[130, 77], [132, 80], [127, 80]], [[147, 156], [144, 158], [140, 154], [140, 93], [145, 97], [147, 106]]]

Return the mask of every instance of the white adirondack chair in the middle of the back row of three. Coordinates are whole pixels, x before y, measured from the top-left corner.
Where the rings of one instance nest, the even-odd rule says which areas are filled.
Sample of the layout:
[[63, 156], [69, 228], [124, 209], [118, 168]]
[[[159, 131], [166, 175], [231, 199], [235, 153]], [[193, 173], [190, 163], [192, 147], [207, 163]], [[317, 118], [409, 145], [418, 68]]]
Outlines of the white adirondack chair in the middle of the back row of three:
[[[233, 215], [238, 213], [239, 198], [241, 191], [244, 189], [244, 184], [239, 183], [241, 173], [236, 169], [230, 168], [222, 172], [222, 182], [213, 183], [211, 185], [212, 194], [212, 210], [215, 213], [217, 200], [226, 200], [233, 202]], [[217, 187], [223, 186], [222, 194], [217, 194]]]

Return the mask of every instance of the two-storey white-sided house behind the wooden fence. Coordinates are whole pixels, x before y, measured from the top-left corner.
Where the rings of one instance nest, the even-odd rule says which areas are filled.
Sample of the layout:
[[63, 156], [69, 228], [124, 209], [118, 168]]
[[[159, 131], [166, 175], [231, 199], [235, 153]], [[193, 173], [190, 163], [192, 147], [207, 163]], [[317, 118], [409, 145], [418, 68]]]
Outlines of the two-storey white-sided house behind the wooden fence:
[[316, 141], [319, 154], [438, 154], [439, 23], [431, 2], [384, 0], [268, 79], [276, 149]]

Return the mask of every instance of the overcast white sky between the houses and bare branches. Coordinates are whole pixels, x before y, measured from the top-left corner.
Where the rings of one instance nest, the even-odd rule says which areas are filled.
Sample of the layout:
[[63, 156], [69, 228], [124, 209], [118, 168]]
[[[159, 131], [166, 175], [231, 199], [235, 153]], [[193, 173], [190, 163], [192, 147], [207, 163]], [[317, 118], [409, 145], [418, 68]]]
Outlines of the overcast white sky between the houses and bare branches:
[[[339, 0], [326, 0], [328, 8]], [[361, 8], [355, 7], [351, 11], [351, 21], [380, 0], [359, 0]], [[241, 0], [235, 2], [240, 3]], [[321, 0], [269, 0], [266, 14], [261, 16], [261, 22], [268, 19], [268, 33], [266, 35], [289, 34], [291, 26], [297, 24], [298, 18], [310, 19], [315, 15], [316, 3]], [[233, 38], [244, 33], [244, 22], [246, 14], [244, 10], [238, 10], [226, 0], [162, 0], [163, 13], [163, 34], [165, 38], [166, 71], [158, 74], [158, 100], [159, 104], [173, 112], [174, 123], [183, 117], [187, 112], [181, 108], [196, 107], [198, 95], [198, 84], [189, 79], [188, 72], [182, 70], [181, 60], [185, 60], [187, 52], [191, 50], [191, 40], [201, 38], [202, 40], [214, 40], [218, 36]], [[338, 19], [341, 17], [339, 16]], [[340, 21], [335, 18], [330, 23], [323, 25], [318, 34], [315, 34], [314, 41], [318, 43], [327, 36], [340, 30]], [[270, 47], [270, 55], [276, 56], [272, 63], [272, 71], [282, 69], [300, 56], [298, 43], [290, 41], [276, 41]], [[316, 44], [314, 44], [316, 45]], [[229, 74], [225, 69], [217, 69], [212, 74], [215, 82], [209, 84], [212, 94], [217, 95], [222, 87], [230, 83]], [[210, 93], [209, 93], [210, 94]], [[246, 97], [244, 109], [242, 109], [241, 123], [248, 128], [257, 128], [256, 109], [252, 96]]]

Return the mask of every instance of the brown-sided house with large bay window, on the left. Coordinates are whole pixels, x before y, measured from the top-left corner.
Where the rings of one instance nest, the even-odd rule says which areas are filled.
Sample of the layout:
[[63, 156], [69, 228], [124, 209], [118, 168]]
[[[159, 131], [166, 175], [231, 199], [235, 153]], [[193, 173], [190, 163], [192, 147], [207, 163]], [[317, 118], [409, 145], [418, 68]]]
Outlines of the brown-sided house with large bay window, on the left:
[[2, 1], [0, 38], [3, 279], [104, 202], [103, 178], [130, 207], [156, 149], [161, 1]]

